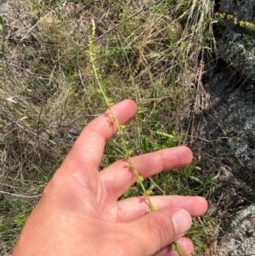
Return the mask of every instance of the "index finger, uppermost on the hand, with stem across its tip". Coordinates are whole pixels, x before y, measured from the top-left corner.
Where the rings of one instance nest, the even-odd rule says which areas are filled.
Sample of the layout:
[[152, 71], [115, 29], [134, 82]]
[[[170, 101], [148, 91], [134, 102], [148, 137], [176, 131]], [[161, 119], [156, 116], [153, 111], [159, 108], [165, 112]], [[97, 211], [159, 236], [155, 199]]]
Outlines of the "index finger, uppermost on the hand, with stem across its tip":
[[[111, 111], [114, 112], [120, 125], [130, 121], [135, 116], [136, 109], [133, 100], [123, 100], [111, 107]], [[111, 111], [105, 111], [82, 130], [75, 145], [65, 158], [65, 169], [72, 172], [80, 170], [83, 173], [88, 170], [98, 172], [105, 143], [116, 132], [116, 123], [111, 121]]]

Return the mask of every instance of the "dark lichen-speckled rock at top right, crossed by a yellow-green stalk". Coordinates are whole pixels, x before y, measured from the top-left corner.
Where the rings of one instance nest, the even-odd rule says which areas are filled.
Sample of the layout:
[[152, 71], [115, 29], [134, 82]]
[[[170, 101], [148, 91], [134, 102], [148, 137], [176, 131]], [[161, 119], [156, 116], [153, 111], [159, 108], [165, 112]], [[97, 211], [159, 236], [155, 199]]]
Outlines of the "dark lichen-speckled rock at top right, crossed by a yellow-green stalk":
[[[255, 20], [255, 1], [222, 0], [219, 10], [233, 14], [238, 21], [253, 22]], [[215, 28], [218, 57], [252, 81], [255, 81], [254, 31], [246, 30], [227, 19], [219, 22]]]

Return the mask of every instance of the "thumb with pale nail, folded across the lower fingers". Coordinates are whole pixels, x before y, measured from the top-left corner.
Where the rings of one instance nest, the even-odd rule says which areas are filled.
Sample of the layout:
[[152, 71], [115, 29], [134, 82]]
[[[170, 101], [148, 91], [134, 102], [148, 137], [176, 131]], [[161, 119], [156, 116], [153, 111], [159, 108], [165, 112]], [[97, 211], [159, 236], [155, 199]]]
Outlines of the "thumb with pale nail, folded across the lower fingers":
[[143, 255], [153, 255], [184, 236], [191, 221], [190, 213], [183, 209], [163, 208], [134, 220], [132, 225]]

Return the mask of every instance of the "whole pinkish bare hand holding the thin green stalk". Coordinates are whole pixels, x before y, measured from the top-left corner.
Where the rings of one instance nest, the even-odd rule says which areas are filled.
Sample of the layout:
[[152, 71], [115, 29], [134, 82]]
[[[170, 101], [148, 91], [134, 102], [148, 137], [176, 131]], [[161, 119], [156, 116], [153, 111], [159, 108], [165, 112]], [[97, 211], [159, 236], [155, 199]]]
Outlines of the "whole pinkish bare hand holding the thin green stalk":
[[[123, 100], [111, 109], [119, 124], [125, 124], [137, 107]], [[136, 180], [125, 167], [127, 160], [98, 171], [105, 143], [116, 132], [110, 117], [108, 110], [82, 130], [27, 219], [13, 256], [177, 256], [169, 247], [174, 241], [184, 254], [193, 251], [192, 242], [183, 236], [191, 216], [207, 211], [204, 198], [151, 196], [157, 210], [147, 214], [149, 206], [142, 196], [117, 201]], [[179, 146], [132, 159], [146, 178], [188, 165], [192, 152]]]

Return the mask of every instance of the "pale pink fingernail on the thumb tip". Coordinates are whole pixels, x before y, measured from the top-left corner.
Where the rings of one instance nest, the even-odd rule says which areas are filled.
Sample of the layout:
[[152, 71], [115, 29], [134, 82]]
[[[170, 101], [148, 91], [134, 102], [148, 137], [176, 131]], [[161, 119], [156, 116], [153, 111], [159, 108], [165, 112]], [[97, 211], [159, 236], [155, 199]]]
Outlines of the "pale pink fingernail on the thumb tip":
[[176, 236], [184, 235], [184, 233], [186, 233], [190, 229], [190, 213], [184, 210], [179, 210], [178, 212], [173, 213], [172, 219]]

